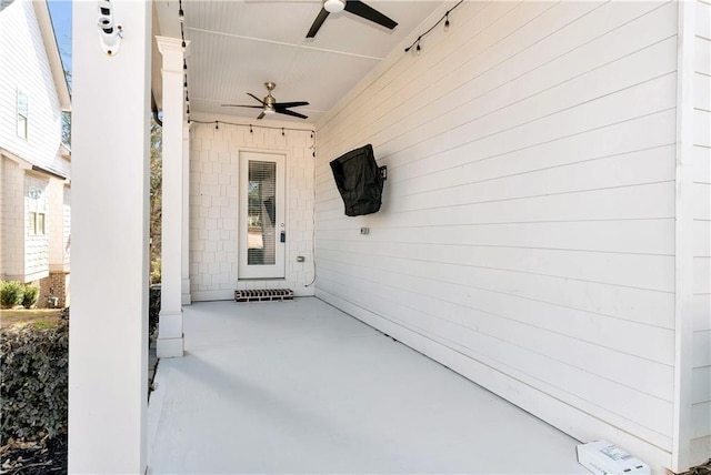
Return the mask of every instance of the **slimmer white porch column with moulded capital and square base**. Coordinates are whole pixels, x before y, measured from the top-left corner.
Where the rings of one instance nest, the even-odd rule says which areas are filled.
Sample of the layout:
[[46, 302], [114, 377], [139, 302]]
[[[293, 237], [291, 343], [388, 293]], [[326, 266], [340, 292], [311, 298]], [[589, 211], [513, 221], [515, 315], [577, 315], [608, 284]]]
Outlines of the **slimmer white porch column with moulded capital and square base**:
[[[158, 357], [183, 354], [183, 122], [184, 89], [182, 40], [156, 37], [163, 55], [163, 195], [161, 235], [161, 295]], [[186, 243], [187, 244], [187, 243]]]

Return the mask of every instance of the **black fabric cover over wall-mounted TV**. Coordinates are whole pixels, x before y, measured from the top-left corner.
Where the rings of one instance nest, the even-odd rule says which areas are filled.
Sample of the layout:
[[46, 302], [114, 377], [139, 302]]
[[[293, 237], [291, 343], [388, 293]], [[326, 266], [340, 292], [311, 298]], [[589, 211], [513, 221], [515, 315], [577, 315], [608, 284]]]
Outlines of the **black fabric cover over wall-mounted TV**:
[[331, 162], [346, 215], [359, 216], [380, 210], [383, 180], [371, 144], [351, 150]]

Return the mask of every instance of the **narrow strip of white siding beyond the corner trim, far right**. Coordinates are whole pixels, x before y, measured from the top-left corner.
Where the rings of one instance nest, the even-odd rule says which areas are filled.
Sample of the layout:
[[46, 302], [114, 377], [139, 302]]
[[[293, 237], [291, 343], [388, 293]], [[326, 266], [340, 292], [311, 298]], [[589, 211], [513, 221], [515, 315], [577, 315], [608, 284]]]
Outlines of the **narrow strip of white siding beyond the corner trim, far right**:
[[694, 322], [691, 463], [711, 457], [711, 4], [695, 3], [694, 43]]

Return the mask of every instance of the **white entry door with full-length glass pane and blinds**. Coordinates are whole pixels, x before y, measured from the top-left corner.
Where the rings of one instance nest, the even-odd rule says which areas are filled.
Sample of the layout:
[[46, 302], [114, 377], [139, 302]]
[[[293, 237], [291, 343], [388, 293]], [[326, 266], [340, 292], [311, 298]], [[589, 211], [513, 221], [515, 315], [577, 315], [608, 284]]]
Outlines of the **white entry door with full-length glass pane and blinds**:
[[284, 155], [240, 152], [239, 279], [283, 279]]

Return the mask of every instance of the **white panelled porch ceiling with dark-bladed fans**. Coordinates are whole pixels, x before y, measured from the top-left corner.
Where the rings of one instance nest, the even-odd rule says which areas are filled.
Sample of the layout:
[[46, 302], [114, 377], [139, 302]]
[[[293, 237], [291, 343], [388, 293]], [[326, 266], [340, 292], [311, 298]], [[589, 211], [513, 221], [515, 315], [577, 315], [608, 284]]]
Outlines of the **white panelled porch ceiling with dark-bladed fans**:
[[[220, 104], [259, 105], [247, 92], [263, 98], [263, 83], [272, 81], [277, 101], [308, 101], [310, 105], [293, 110], [308, 115], [308, 122], [318, 122], [443, 2], [365, 3], [398, 27], [391, 31], [348, 12], [331, 13], [317, 37], [307, 39], [321, 0], [183, 0], [191, 113], [257, 118], [259, 109]], [[157, 34], [180, 38], [178, 1], [154, 6]], [[160, 60], [154, 49], [153, 90], [159, 104]], [[272, 117], [303, 122], [283, 114]]]

